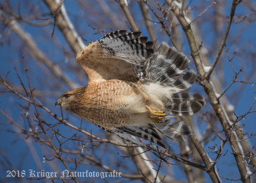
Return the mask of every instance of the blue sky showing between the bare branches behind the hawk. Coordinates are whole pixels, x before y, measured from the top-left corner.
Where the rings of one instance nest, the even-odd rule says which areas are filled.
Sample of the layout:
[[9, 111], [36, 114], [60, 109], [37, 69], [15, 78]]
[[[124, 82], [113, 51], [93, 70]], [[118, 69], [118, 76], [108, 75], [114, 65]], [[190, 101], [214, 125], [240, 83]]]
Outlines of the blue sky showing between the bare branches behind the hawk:
[[[3, 3], [3, 1], [0, 2]], [[42, 18], [51, 17], [51, 15], [49, 15], [49, 10], [47, 6], [45, 6], [43, 1], [35, 1], [35, 9], [31, 8], [31, 4], [27, 4], [29, 2], [31, 3], [31, 1], [25, 0], [19, 2], [19, 10], [20, 13], [24, 15], [24, 17], [28, 17], [29, 13], [31, 13], [30, 11], [32, 10], [32, 13], [35, 14], [36, 11], [41, 12], [38, 14]], [[65, 1], [65, 7], [67, 8], [70, 20], [74, 24], [74, 27], [76, 28], [79, 35], [81, 35], [83, 38], [86, 38], [88, 42], [92, 42], [93, 40], [97, 40], [104, 34], [97, 33], [97, 31], [90, 28], [90, 26], [108, 32], [119, 29], [116, 28], [113, 23], [111, 23], [111, 20], [108, 19], [108, 17], [102, 17], [104, 13], [102, 13], [102, 9], [97, 6], [97, 3], [95, 3], [94, 1], [88, 1], [87, 3], [92, 6], [92, 9], [88, 8], [90, 7], [88, 4], [86, 4], [86, 6], [84, 7], [82, 6], [83, 3], [79, 4], [75, 3], [74, 1]], [[120, 12], [120, 15], [122, 16], [118, 17], [118, 19], [120, 19], [121, 22], [124, 22], [125, 17], [122, 14], [122, 10], [120, 9], [120, 7], [117, 6], [114, 1], [107, 1], [107, 3], [109, 4], [113, 12]], [[200, 14], [200, 12], [202, 12], [202, 10], [204, 10], [204, 5], [202, 5], [202, 3], [205, 3], [206, 7], [209, 6], [211, 1], [191, 1], [189, 7], [194, 7], [192, 10], [193, 16], [196, 17], [198, 14]], [[230, 13], [231, 1], [226, 1], [226, 3], [224, 4], [225, 6], [223, 8], [223, 15], [228, 16]], [[17, 13], [17, 1], [10, 1], [10, 5], [13, 7], [13, 11]], [[131, 9], [132, 15], [136, 23], [138, 24], [138, 27], [143, 32], [143, 35], [148, 36], [147, 29], [145, 27], [145, 24], [143, 23], [143, 17], [140, 14], [140, 7], [138, 6], [138, 3], [136, 3], [135, 1], [130, 1], [129, 8]], [[94, 13], [93, 15], [95, 16], [92, 16], [92, 13]], [[236, 15], [247, 15], [250, 13], [251, 12], [249, 8], [242, 3], [241, 6], [237, 8]], [[116, 15], [118, 15], [118, 13], [116, 13]], [[214, 15], [214, 8], [210, 8], [204, 15], [202, 15], [202, 17], [196, 20], [196, 23], [200, 23], [200, 26], [198, 26], [198, 28], [200, 28], [200, 31], [202, 31], [201, 37], [203, 45], [207, 50], [210, 51], [207, 55], [210, 62], [212, 62], [212, 60], [214, 59], [217, 51], [212, 49], [216, 40], [216, 33], [214, 33], [214, 25], [212, 24], [212, 15]], [[100, 23], [102, 22], [102, 19], [104, 19], [104, 24]], [[239, 17], [236, 17], [236, 19], [239, 19]], [[51, 20], [53, 21], [53, 19]], [[40, 23], [45, 22], [46, 20], [31, 19], [31, 21]], [[227, 22], [223, 24], [223, 30], [221, 31], [221, 35], [223, 35], [224, 33], [226, 24]], [[10, 31], [8, 27], [5, 27], [3, 22], [0, 23], [0, 26], [3, 30], [3, 32], [0, 33], [1, 43], [3, 42], [3, 44], [0, 45], [0, 55], [2, 63], [2, 66], [0, 67], [0, 76], [4, 78], [8, 75], [8, 83], [12, 83], [12, 86], [16, 86], [19, 89], [20, 93], [24, 94], [24, 92], [21, 92], [20, 90], [20, 81], [17, 78], [17, 74], [15, 73], [14, 69], [14, 67], [17, 68], [19, 76], [21, 77], [26, 88], [28, 89], [26, 72], [24, 72], [24, 63], [22, 61], [22, 56], [24, 56], [26, 65], [28, 67], [28, 73], [32, 88], [35, 88], [36, 91], [39, 91], [39, 93], [44, 93], [45, 95], [44, 97], [40, 97], [38, 95], [38, 99], [40, 100], [40, 102], [42, 102], [42, 104], [51, 109], [52, 112], [60, 116], [60, 109], [54, 106], [54, 102], [56, 101], [56, 99], [58, 99], [58, 96], [60, 96], [61, 93], [66, 92], [70, 88], [67, 85], [61, 83], [60, 79], [52, 75], [47, 67], [38, 63], [38, 61], [36, 61], [36, 59], [33, 58], [31, 54], [29, 54], [28, 47], [26, 46], [26, 44], [24, 44], [24, 42], [22, 42], [22, 40], [20, 40], [20, 37], [17, 34], [13, 33], [13, 31]], [[67, 76], [72, 81], [74, 81], [79, 86], [85, 85], [87, 83], [86, 74], [76, 64], [76, 55], [74, 54], [74, 52], [72, 52], [58, 28], [55, 29], [54, 36], [53, 38], [51, 38], [53, 28], [52, 24], [44, 27], [35, 27], [21, 22], [20, 26], [31, 36], [31, 38], [33, 38], [33, 40], [35, 40], [36, 45], [42, 52], [44, 52], [45, 56], [53, 61], [56, 65], [59, 65], [63, 72], [65, 72], [65, 74], [67, 74]], [[125, 23], [123, 26], [124, 28], [129, 29], [127, 28], [127, 25]], [[159, 24], [154, 24], [154, 28], [157, 32], [157, 38], [159, 43], [162, 41], [166, 41], [171, 45], [170, 39], [164, 34], [164, 31], [161, 30], [161, 26]], [[249, 21], [246, 24], [243, 22], [232, 24], [232, 27], [230, 29], [230, 35], [228, 36], [227, 40], [228, 54], [232, 56], [232, 54], [236, 52], [236, 56], [233, 60], [234, 68], [237, 70], [237, 72], [240, 68], [243, 68], [243, 72], [241, 72], [238, 79], [248, 79], [246, 81], [254, 82], [256, 78], [254, 73], [256, 51], [255, 31], [255, 22], [252, 23]], [[186, 41], [184, 33], [181, 31], [181, 29], [180, 36], [183, 36], [182, 50], [185, 54], [188, 55], [188, 42]], [[237, 43], [237, 41], [239, 43]], [[84, 44], [87, 43], [84, 42]], [[223, 51], [223, 55], [219, 64], [223, 65], [220, 68], [220, 70], [223, 70], [223, 77], [220, 76], [219, 70], [216, 70], [215, 74], [216, 76], [220, 77], [220, 82], [223, 83], [223, 88], [221, 89], [221, 91], [223, 91], [232, 81], [232, 77], [234, 77], [234, 72], [230, 67], [230, 63], [228, 62], [225, 49]], [[189, 67], [195, 68], [192, 59]], [[252, 77], [248, 77], [249, 75], [252, 75]], [[4, 88], [2, 85], [0, 86], [0, 90], [4, 91], [0, 93], [0, 109], [3, 110], [4, 113], [6, 113], [8, 116], [12, 117], [13, 121], [19, 123], [20, 125], [24, 125], [26, 129], [29, 129], [29, 123], [32, 123], [33, 127], [36, 128], [36, 126], [38, 126], [36, 125], [36, 121], [33, 121], [33, 118], [29, 118], [24, 115], [28, 112], [29, 115], [33, 116], [35, 114], [35, 109], [33, 108], [33, 106], [29, 106], [28, 103], [24, 102], [24, 100], [20, 99], [16, 95], [13, 95], [13, 93], [5, 92], [6, 88]], [[195, 84], [195, 88], [193, 88], [192, 90], [200, 91], [202, 93], [204, 92], [199, 84]], [[236, 114], [243, 115], [244, 113], [246, 113], [246, 111], [248, 111], [253, 102], [254, 92], [256, 92], [254, 84], [244, 85], [241, 83], [235, 83], [230, 88], [230, 90], [227, 91], [225, 97], [227, 97], [228, 102], [231, 105], [234, 105]], [[203, 95], [205, 95], [205, 93]], [[209, 102], [209, 100], [207, 100], [207, 102]], [[28, 108], [28, 110], [26, 110], [26, 108]], [[255, 107], [253, 107], [253, 109], [255, 110]], [[201, 114], [211, 113], [211, 111], [212, 108], [208, 103], [207, 106], [202, 109]], [[46, 122], [56, 122], [56, 120], [54, 120], [52, 116], [49, 116], [49, 114], [47, 114], [42, 109], [40, 109], [40, 114], [41, 118], [44, 119]], [[68, 120], [74, 125], [79, 126], [81, 123], [81, 119], [75, 115], [64, 112], [64, 116], [65, 118], [68, 118]], [[244, 120], [241, 120], [241, 124], [244, 125], [244, 131], [246, 131], [248, 135], [255, 133], [255, 119], [256, 114], [252, 113], [246, 116]], [[28, 172], [29, 169], [40, 171], [40, 168], [44, 168], [45, 171], [51, 170], [52, 166], [50, 167], [49, 164], [43, 163], [43, 157], [45, 154], [47, 154], [47, 152], [45, 152], [45, 149], [47, 148], [38, 145], [38, 143], [35, 142], [35, 139], [28, 138], [27, 140], [24, 140], [26, 136], [22, 135], [22, 132], [19, 131], [17, 127], [15, 127], [14, 125], [10, 125], [10, 123], [8, 123], [8, 119], [6, 119], [6, 117], [4, 117], [4, 115], [2, 115], [1, 113], [0, 122], [0, 152], [3, 152], [3, 154], [6, 156], [6, 159], [8, 159], [8, 161], [10, 161], [10, 164], [12, 164], [13, 166], [10, 167], [10, 164], [4, 161], [5, 158], [3, 157], [3, 154], [0, 156], [0, 163], [2, 163], [0, 166], [0, 180], [6, 179], [6, 171], [8, 170], [26, 170], [26, 172]], [[198, 128], [200, 129], [200, 132], [204, 133], [205, 129], [208, 126], [207, 123], [202, 121], [202, 118], [198, 116], [195, 118], [195, 122], [198, 123]], [[216, 124], [216, 128], [221, 129], [220, 122], [218, 122], [218, 120]], [[82, 127], [84, 129], [87, 129], [88, 131], [92, 131], [93, 134], [98, 134], [99, 136], [105, 137], [104, 133], [102, 133], [102, 131], [98, 127], [95, 127], [95, 125], [93, 125], [92, 123], [88, 123], [83, 120]], [[58, 129], [61, 131], [61, 133], [67, 136], [72, 136], [72, 134], [74, 134], [74, 131], [70, 131], [70, 129], [68, 127], [65, 127], [64, 125], [59, 125]], [[39, 130], [40, 128], [38, 128], [38, 131]], [[20, 135], [17, 136], [16, 133]], [[79, 134], [79, 136], [81, 138], [84, 138], [83, 134]], [[32, 143], [33, 145], [29, 145], [29, 143]], [[250, 143], [252, 146], [255, 146], [254, 136], [250, 138]], [[214, 138], [214, 140], [209, 141], [204, 145], [205, 151], [209, 153], [209, 156], [211, 158], [214, 158], [216, 155], [211, 153], [211, 149], [209, 147], [213, 147], [215, 144], [220, 145], [220, 140], [218, 138]], [[76, 147], [76, 145], [69, 143], [67, 146], [65, 146], [65, 148], [70, 147], [74, 148]], [[76, 148], [78, 150], [81, 150], [81, 146]], [[177, 147], [177, 145], [173, 143], [173, 148], [179, 147]], [[220, 161], [218, 161], [217, 168], [220, 170], [220, 172], [222, 173], [221, 175], [223, 175], [224, 177], [237, 179], [239, 178], [239, 172], [236, 168], [236, 161], [234, 160], [234, 156], [231, 154], [230, 145], [225, 145], [224, 151], [225, 150], [228, 150], [228, 153], [227, 155], [221, 157]], [[35, 151], [36, 153], [31, 153], [33, 151]], [[116, 147], [113, 147], [108, 152], [97, 149], [95, 151], [96, 154], [99, 156], [102, 155], [102, 153], [108, 154], [106, 158], [102, 159], [102, 163], [109, 164], [109, 160], [117, 158], [120, 164], [125, 164], [126, 168], [131, 168], [133, 166], [132, 162], [129, 159], [123, 159], [118, 155], [122, 152], [120, 152], [120, 150], [118, 150], [118, 148]], [[179, 150], [174, 151], [178, 152]], [[91, 153], [91, 151], [89, 152]], [[37, 155], [37, 157], [35, 157], [35, 154]], [[75, 155], [70, 157], [74, 158]], [[54, 159], [53, 161], [51, 161], [51, 163], [56, 163], [60, 165], [60, 162], [57, 159]], [[109, 164], [109, 166], [112, 166], [113, 168], [119, 168], [120, 164]], [[70, 164], [70, 166], [74, 167], [74, 164]], [[62, 165], [60, 165], [59, 168], [61, 170], [64, 170], [64, 167]], [[95, 166], [91, 166], [90, 164], [84, 164], [83, 166], [79, 166], [79, 170], [102, 171], [101, 169], [97, 170]], [[121, 171], [124, 171], [125, 173], [125, 168], [123, 168]], [[165, 171], [168, 172], [168, 170]], [[184, 178], [184, 173], [180, 172], [179, 167], [177, 168], [177, 166], [173, 166], [172, 171], [174, 175], [179, 175], [175, 176], [179, 180], [186, 180], [186, 178]], [[207, 182], [210, 181], [209, 176], [206, 174], [205, 179], [207, 180]], [[114, 180], [116, 179], [109, 179], [109, 182]], [[103, 182], [104, 180], [97, 179], [94, 181]], [[227, 180], [223, 180], [223, 182], [226, 181]], [[15, 179], [10, 178], [8, 179], [8, 182], [15, 182]], [[44, 182], [44, 180], [38, 182]]]

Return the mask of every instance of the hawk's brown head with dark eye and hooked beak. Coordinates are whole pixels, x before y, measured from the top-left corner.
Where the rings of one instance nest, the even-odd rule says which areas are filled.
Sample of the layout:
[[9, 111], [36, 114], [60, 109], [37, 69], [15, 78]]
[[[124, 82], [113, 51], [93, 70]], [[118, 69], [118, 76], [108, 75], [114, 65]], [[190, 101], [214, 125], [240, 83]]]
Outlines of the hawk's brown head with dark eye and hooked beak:
[[76, 104], [83, 98], [85, 90], [86, 86], [81, 86], [74, 90], [63, 93], [60, 99], [55, 102], [55, 106], [61, 106], [70, 111], [72, 106], [76, 106]]

